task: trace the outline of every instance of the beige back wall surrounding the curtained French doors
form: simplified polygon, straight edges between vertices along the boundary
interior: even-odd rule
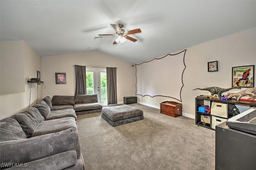
[[[135,95],[136,77],[135,67],[131,63],[101,53],[99,51],[87,51],[42,57],[42,80],[46,84],[43,96],[70,95],[75,92],[74,65],[92,67],[117,67],[117,95],[118,103],[123,102],[124,96]],[[55,73],[66,73],[66,84],[55,84]]]

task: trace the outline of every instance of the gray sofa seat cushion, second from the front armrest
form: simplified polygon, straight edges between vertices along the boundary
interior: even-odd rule
[[[62,117],[74,117],[76,120],[76,112],[74,109],[52,110],[46,120],[60,119]]]

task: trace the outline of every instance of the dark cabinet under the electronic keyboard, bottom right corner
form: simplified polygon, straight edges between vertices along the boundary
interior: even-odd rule
[[[231,129],[226,122],[216,126],[215,170],[255,170],[256,135]]]

